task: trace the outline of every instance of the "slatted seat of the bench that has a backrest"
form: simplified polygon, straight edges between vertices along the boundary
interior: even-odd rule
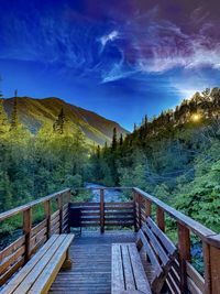
[[[112,244],[112,294],[151,294],[135,243]]]

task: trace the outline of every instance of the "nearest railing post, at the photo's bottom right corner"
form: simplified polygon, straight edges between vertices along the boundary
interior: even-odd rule
[[[205,294],[220,294],[220,235],[208,237],[208,239],[202,243]]]

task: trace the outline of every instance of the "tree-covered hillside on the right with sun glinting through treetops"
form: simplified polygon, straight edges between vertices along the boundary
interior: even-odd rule
[[[220,231],[220,88],[196,92],[91,156],[92,181],[139,186]]]

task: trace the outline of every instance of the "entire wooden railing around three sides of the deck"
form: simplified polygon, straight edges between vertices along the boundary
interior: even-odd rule
[[[178,258],[166,280],[170,293],[220,293],[220,235],[139,188],[122,188],[129,189],[130,194],[133,195],[130,200],[124,203],[108,203],[105,200],[106,189],[111,188],[91,189],[99,190],[99,202],[73,202],[70,189],[67,188],[0,214],[0,224],[16,215],[22,214],[23,216],[23,235],[0,251],[0,285],[9,280],[51,235],[68,232],[68,206],[70,204],[73,207],[81,208],[82,227],[99,227],[101,232],[105,232],[105,229],[119,228],[119,226],[139,230],[147,216],[154,217],[157,226],[166,231],[166,216],[169,216],[177,225],[178,247]],[[52,213],[54,200],[56,200],[57,209]],[[36,206],[43,207],[44,218],[34,225],[32,213]],[[205,276],[199,274],[191,264],[191,233],[196,235],[202,242]]]

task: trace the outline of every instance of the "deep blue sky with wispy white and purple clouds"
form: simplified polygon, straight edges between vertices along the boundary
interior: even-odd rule
[[[132,130],[220,86],[219,14],[219,0],[0,0],[0,88]]]

